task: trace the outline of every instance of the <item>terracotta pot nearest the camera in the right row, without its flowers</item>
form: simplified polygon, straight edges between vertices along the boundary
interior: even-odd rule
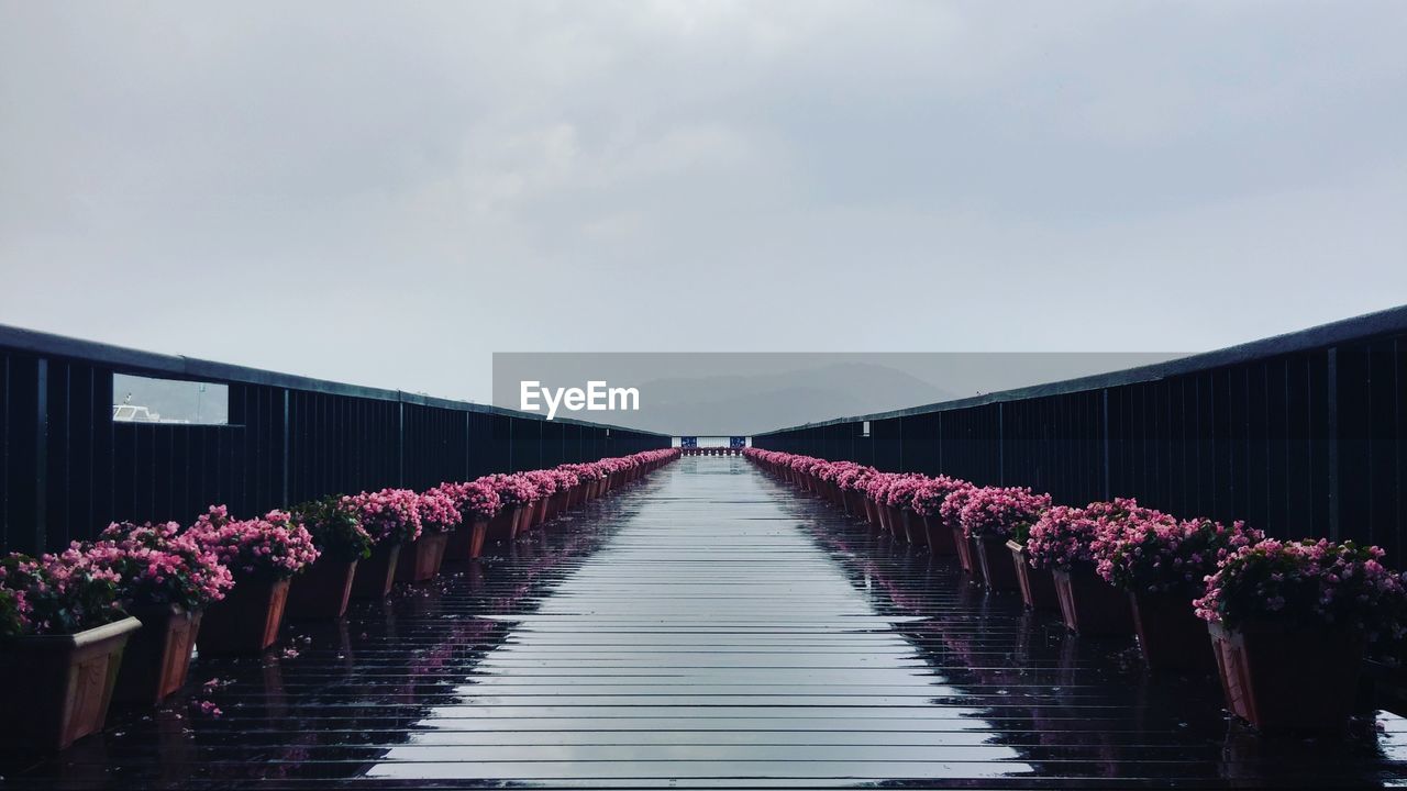
[[[1341,730],[1352,712],[1363,638],[1351,632],[1209,624],[1231,714],[1261,730]]]

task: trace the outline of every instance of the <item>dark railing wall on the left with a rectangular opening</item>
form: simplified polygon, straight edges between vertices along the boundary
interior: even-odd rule
[[[228,425],[113,419],[113,374],[227,384]],[[114,519],[263,512],[332,493],[667,448],[670,436],[0,325],[0,549]]]

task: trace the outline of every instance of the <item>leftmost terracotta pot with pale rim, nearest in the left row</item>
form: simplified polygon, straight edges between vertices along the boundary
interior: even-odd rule
[[[136,618],[76,635],[17,638],[0,652],[0,733],[42,750],[62,750],[97,733],[113,702],[122,649]]]

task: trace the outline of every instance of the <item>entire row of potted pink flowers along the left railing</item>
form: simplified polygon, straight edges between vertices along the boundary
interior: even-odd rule
[[[203,654],[259,653],[284,615],[339,618],[352,597],[424,581],[677,457],[677,450],[492,474],[428,491],[326,497],[241,519],[214,505],[189,528],[113,524],[61,553],[0,559],[0,698],[14,733],[62,749],[110,702],[153,705]]]

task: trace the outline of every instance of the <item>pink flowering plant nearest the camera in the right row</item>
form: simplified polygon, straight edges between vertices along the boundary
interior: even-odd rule
[[[1204,621],[1231,629],[1276,622],[1400,639],[1407,594],[1383,556],[1354,542],[1265,539],[1230,553],[1192,604]]]

